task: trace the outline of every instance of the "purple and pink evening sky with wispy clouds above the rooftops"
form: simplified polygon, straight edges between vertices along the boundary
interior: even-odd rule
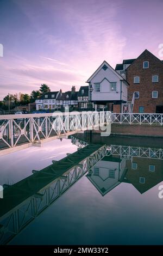
[[[146,48],[160,58],[162,10],[162,0],[0,0],[0,100],[42,83],[78,90],[104,60],[115,68]]]

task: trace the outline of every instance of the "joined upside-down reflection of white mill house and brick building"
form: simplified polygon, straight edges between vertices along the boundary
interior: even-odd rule
[[[105,196],[121,182],[132,184],[141,194],[163,180],[163,159],[133,156],[105,156],[87,178]]]

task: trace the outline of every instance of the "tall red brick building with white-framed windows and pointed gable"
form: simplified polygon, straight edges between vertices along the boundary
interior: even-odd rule
[[[145,50],[126,69],[128,101],[134,113],[163,113],[163,62]]]

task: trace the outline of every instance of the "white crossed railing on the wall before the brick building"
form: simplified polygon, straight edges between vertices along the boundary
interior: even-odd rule
[[[112,113],[113,124],[163,125],[163,114]]]

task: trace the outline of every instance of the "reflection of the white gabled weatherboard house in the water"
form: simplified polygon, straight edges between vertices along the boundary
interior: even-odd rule
[[[87,178],[104,196],[117,185],[121,183],[126,173],[126,159],[120,159],[119,156],[105,156],[101,161],[95,164]]]

